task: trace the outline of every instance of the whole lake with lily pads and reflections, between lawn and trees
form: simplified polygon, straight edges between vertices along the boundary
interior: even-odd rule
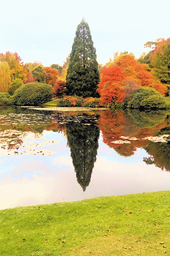
[[[0,209],[170,189],[168,111],[0,107]]]

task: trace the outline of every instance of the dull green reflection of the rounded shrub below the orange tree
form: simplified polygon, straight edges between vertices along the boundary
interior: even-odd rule
[[[132,117],[133,122],[140,128],[151,128],[155,127],[166,117],[164,110],[157,111],[139,111],[129,110],[129,116]]]

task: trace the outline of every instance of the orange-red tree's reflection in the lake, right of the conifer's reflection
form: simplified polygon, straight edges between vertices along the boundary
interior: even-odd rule
[[[145,126],[142,128],[134,123],[134,120],[128,113],[118,111],[112,113],[109,110],[102,111],[98,123],[102,131],[103,142],[109,145],[110,148],[114,148],[117,153],[123,156],[133,155],[137,148],[146,147],[148,140],[144,138],[155,135],[162,127],[166,126],[166,121],[163,119],[163,121],[156,126],[149,128]],[[129,138],[125,139],[125,137]],[[116,141],[117,143],[114,143]]]

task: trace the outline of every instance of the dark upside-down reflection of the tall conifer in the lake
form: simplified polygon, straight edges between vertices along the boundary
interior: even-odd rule
[[[96,121],[87,116],[81,122],[73,120],[67,123],[66,134],[77,182],[85,191],[96,162],[100,130]]]

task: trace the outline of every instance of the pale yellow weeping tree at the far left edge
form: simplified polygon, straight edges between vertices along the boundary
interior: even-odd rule
[[[0,63],[0,92],[8,92],[11,84],[11,71],[8,62]]]

